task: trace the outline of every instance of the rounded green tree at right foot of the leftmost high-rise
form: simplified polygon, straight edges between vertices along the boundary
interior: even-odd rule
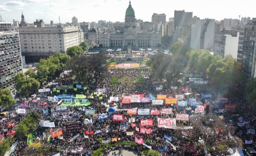
[[[28,96],[39,89],[40,83],[34,78],[26,78],[23,73],[18,73],[15,78],[15,89],[22,97]]]

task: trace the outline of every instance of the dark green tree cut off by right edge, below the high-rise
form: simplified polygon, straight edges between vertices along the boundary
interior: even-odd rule
[[[254,109],[256,109],[256,78],[248,79],[245,87],[245,94],[247,100],[254,106]]]

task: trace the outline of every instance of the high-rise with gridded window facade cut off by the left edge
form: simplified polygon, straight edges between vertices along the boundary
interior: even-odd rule
[[[14,77],[22,73],[20,38],[11,22],[0,22],[0,87],[15,94]]]

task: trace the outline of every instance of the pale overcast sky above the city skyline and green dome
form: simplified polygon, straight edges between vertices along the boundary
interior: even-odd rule
[[[78,22],[97,22],[106,20],[124,22],[129,0],[0,0],[0,14],[6,22],[20,21],[21,12],[27,23],[35,19],[44,19],[45,23],[72,22],[76,16]],[[165,13],[166,20],[174,17],[174,10],[193,12],[200,19],[224,18],[238,19],[256,17],[256,0],[131,0],[135,18],[151,22],[153,13]],[[241,18],[240,18],[241,19]]]

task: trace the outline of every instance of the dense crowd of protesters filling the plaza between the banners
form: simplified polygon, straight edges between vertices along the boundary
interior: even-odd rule
[[[167,94],[168,96],[175,97],[175,95],[183,94],[184,91],[182,90],[183,87],[178,87],[176,90],[171,90],[169,86],[166,86],[165,84],[158,84],[156,83],[152,78],[150,78],[149,75],[149,69],[140,69],[140,70],[115,70],[110,69],[110,75],[106,76],[104,81],[100,82],[98,85],[91,84],[87,86],[87,89],[78,89],[77,91],[74,91],[73,89],[67,90],[67,92],[63,92],[61,94],[68,94],[68,95],[76,95],[76,94],[83,94],[87,97],[90,96],[91,93],[95,92],[95,88],[107,88],[108,92],[105,94],[104,98],[102,100],[99,100],[98,94],[93,95],[94,98],[88,98],[88,101],[91,102],[89,106],[74,106],[74,107],[68,107],[68,110],[66,112],[59,112],[56,113],[56,109],[52,112],[51,115],[44,114],[43,110],[48,109],[50,106],[51,108],[55,108],[57,105],[57,102],[50,102],[48,101],[48,96],[57,96],[59,93],[57,92],[35,92],[36,97],[34,99],[37,99],[40,97],[40,100],[35,103],[32,102],[33,99],[27,98],[20,98],[17,97],[16,101],[17,103],[24,103],[27,102],[26,106],[26,113],[25,114],[17,114],[15,112],[16,108],[20,108],[18,105],[16,108],[13,108],[8,114],[4,116],[5,120],[2,120],[1,122],[1,130],[0,133],[4,133],[6,136],[6,133],[10,130],[14,130],[14,127],[10,127],[9,124],[15,123],[18,124],[27,113],[30,111],[35,111],[37,113],[40,113],[42,116],[42,120],[52,120],[55,122],[55,127],[51,128],[52,132],[56,130],[63,130],[63,139],[59,139],[58,137],[55,137],[51,143],[51,153],[49,153],[49,156],[52,156],[54,154],[57,154],[61,150],[66,151],[65,155],[82,155],[82,156],[90,156],[92,152],[96,149],[98,149],[102,144],[106,142],[110,142],[112,138],[119,138],[118,141],[134,141],[134,136],[137,138],[143,138],[144,142],[146,139],[152,140],[152,144],[150,145],[152,147],[152,150],[160,151],[162,156],[180,156],[185,155],[184,154],[184,145],[190,144],[191,146],[196,146],[196,142],[191,142],[189,139],[179,139],[176,137],[175,130],[168,129],[168,128],[159,128],[157,126],[157,118],[176,118],[176,114],[186,114],[185,109],[188,107],[191,107],[188,103],[187,106],[179,107],[174,104],[173,105],[151,105],[151,104],[140,104],[140,103],[134,103],[134,104],[122,104],[121,98],[124,95],[133,95],[133,94],[143,94],[144,97],[149,97],[149,95],[153,95],[156,97],[158,94]],[[113,84],[111,83],[111,77],[115,76],[117,78],[121,79],[121,82]],[[144,83],[125,83],[122,80],[123,77],[132,77],[132,80],[135,80],[138,77],[145,77]],[[130,81],[132,81],[130,80]],[[52,81],[52,83],[59,83],[58,85],[74,85],[76,82],[74,82],[73,79],[66,75],[60,76],[60,78],[57,78],[56,80]],[[162,86],[162,90],[156,90],[156,87]],[[188,87],[188,86],[187,86]],[[214,97],[217,97],[217,92],[212,92],[211,89],[207,88],[207,85],[190,85],[189,86],[191,90],[191,97],[196,97],[196,94],[200,94],[202,92],[211,92]],[[53,90],[56,88],[55,85],[44,85],[44,88],[50,88]],[[110,96],[116,96],[119,98],[118,102],[109,101]],[[59,99],[60,100],[60,99]],[[73,100],[74,101],[74,100]],[[40,106],[40,103],[47,102],[48,104],[46,106]],[[67,102],[67,101],[64,101]],[[229,103],[236,103],[237,106],[237,112],[240,110],[244,110],[248,107],[248,104],[242,100],[234,101],[233,99],[229,99]],[[109,118],[107,120],[98,120],[97,115],[85,115],[85,109],[95,110],[95,114],[102,114],[107,112],[106,106],[109,107],[117,107],[117,109],[121,109],[119,111],[116,111],[116,114],[123,114],[125,116],[124,121],[113,121],[111,118],[111,115],[109,115]],[[213,107],[218,107],[218,109],[222,109],[224,105],[222,103],[216,104]],[[160,115],[128,115],[126,110],[122,109],[129,109],[129,108],[138,108],[138,109],[158,109],[161,110],[162,108],[172,108],[171,114],[160,114]],[[254,113],[251,111],[251,109],[246,112],[246,114],[240,114],[240,116],[243,116],[244,119],[247,118],[247,116],[253,116]],[[241,111],[243,112],[243,111]],[[153,119],[153,126],[146,126],[145,128],[151,128],[151,134],[143,134],[136,130],[135,127],[131,126],[131,123],[129,122],[130,118],[135,118],[135,124],[137,128],[140,128],[140,120],[145,119]],[[84,124],[84,119],[92,119],[91,124]],[[193,126],[193,128],[196,128],[196,125],[193,125],[192,120],[194,118],[189,118],[187,121],[177,120],[177,126]],[[237,119],[236,119],[237,120]],[[82,129],[76,130],[76,131],[65,131],[65,125],[67,124],[74,124],[77,122],[82,123]],[[251,124],[254,124],[255,122],[252,121]],[[240,127],[241,130],[245,131],[243,129],[244,127]],[[45,142],[48,136],[45,137],[46,130],[50,130],[49,127],[39,127],[36,132],[34,132],[34,135],[37,139],[37,141],[41,140],[41,142]],[[98,130],[101,130],[100,133],[97,134],[87,134],[87,132],[96,132]],[[134,135],[129,136],[126,134],[126,132],[133,132]],[[79,134],[79,136],[71,141],[71,138]],[[172,137],[171,143],[175,146],[176,149],[173,148],[169,143],[166,142],[166,138],[164,136]],[[102,138],[104,140],[104,143],[100,143],[98,141],[99,138]],[[184,137],[186,138],[186,137]],[[21,138],[17,138],[19,140],[18,146],[11,155],[17,156],[21,155],[21,151],[26,148],[27,141],[22,140]],[[247,140],[249,139],[255,139],[252,134],[247,135]],[[105,148],[104,154],[107,155],[109,153],[112,153],[111,151],[115,149],[119,149],[121,152],[122,149],[135,149],[138,150],[138,155],[141,155],[142,151],[142,145],[136,145],[136,146],[118,146],[116,148]],[[191,153],[189,154],[191,155]],[[204,151],[197,151],[197,155],[204,155]]]

